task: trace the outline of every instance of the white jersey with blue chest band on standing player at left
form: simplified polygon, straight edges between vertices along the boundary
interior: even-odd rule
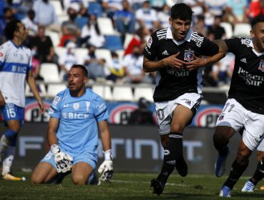
[[[13,41],[0,46],[0,91],[6,103],[25,107],[25,80],[31,69],[31,51],[26,46]]]

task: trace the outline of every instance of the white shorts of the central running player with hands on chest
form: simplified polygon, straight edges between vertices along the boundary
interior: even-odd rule
[[[203,95],[201,94],[186,93],[171,101],[156,102],[155,109],[159,133],[164,135],[171,131],[173,111],[176,109],[178,104],[186,106],[188,109],[193,111],[194,116],[200,107],[200,101],[202,101],[202,99]]]

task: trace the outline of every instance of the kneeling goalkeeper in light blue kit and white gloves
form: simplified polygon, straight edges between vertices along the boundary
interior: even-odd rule
[[[49,110],[47,140],[50,151],[31,176],[33,184],[61,179],[71,171],[74,184],[86,184],[97,163],[98,128],[105,161],[98,169],[101,179],[113,176],[108,109],[98,94],[86,88],[88,72],[82,65],[68,71],[68,89],[59,92]]]

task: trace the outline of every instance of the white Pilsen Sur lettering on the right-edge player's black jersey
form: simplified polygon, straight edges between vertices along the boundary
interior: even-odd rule
[[[260,69],[260,67],[258,69]],[[264,81],[264,76],[258,76],[258,75],[250,74],[250,73],[248,73],[248,71],[245,71],[241,67],[239,67],[239,69],[238,69],[238,75],[249,86],[260,86]]]

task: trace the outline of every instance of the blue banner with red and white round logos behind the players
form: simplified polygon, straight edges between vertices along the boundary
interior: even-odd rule
[[[44,101],[46,109],[51,106],[50,101]],[[106,102],[109,111],[109,124],[128,124],[128,119],[132,111],[138,108],[136,103],[131,102]],[[153,113],[153,119],[156,121],[155,106],[149,106]],[[214,127],[218,116],[223,109],[223,105],[201,105],[196,116],[193,118],[191,126]],[[48,122],[49,115],[40,113],[37,101],[26,99],[25,121],[30,122]]]

